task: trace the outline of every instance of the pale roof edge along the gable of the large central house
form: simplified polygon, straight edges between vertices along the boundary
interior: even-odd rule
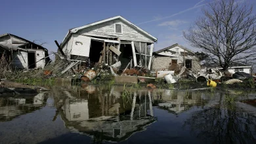
[[[140,31],[141,33],[144,33],[144,35],[147,35],[148,37],[150,37],[151,39],[153,39],[154,41],[158,41],[158,39],[156,37],[153,37],[152,35],[150,35],[149,33],[147,33],[146,31],[144,31],[143,29],[140,29],[140,27],[137,27],[135,26],[134,24],[132,24],[131,22],[129,22],[128,20],[126,20],[125,18],[123,18],[122,16],[114,16],[112,18],[107,18],[105,20],[100,20],[98,22],[93,22],[91,24],[87,24],[85,26],[81,26],[81,27],[75,27],[75,28],[72,28],[68,31],[66,37],[64,38],[64,40],[62,41],[62,43],[65,43],[66,39],[68,39],[68,37],[70,36],[71,33],[76,33],[77,31],[79,31],[80,29],[84,29],[84,28],[87,28],[87,27],[91,27],[91,26],[95,26],[97,24],[102,24],[104,22],[109,22],[111,20],[116,20],[116,19],[120,19],[122,20],[123,22],[129,24],[129,26],[131,27],[134,27],[135,29],[137,29],[138,31]],[[61,43],[61,45],[62,45]]]

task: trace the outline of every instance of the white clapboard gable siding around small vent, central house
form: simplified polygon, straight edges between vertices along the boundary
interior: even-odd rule
[[[116,23],[122,25],[122,33],[115,33]],[[152,39],[150,39],[140,31],[137,31],[136,28],[129,26],[122,20],[112,20],[109,22],[98,24],[96,26],[87,27],[78,31],[78,33],[92,36],[98,35],[99,37],[103,37],[104,35],[114,35],[116,37],[119,37],[121,40],[154,43]]]

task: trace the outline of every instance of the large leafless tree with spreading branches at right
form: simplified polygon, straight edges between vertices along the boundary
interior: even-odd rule
[[[256,60],[256,15],[253,6],[234,0],[216,0],[202,9],[203,16],[183,32],[188,42],[202,48],[224,70],[235,63]]]

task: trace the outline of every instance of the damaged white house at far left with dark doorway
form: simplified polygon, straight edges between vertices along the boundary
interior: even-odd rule
[[[49,62],[48,50],[10,33],[0,35],[0,56],[5,56],[13,68],[43,68]]]

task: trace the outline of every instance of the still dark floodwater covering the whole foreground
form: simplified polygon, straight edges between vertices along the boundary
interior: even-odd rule
[[[0,97],[0,143],[255,143],[253,92],[57,86]]]

